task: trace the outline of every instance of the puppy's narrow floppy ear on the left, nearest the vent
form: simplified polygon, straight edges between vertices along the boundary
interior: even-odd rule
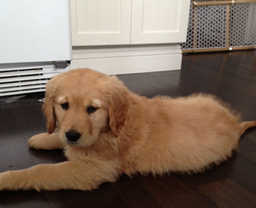
[[[54,80],[48,81],[46,84],[45,104],[43,110],[47,121],[47,132],[53,133],[56,128],[56,115],[54,112]]]

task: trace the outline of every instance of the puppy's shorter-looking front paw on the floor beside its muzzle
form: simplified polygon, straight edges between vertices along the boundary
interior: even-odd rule
[[[58,133],[39,133],[35,136],[32,136],[28,142],[31,148],[35,149],[63,149],[65,145],[60,141]]]

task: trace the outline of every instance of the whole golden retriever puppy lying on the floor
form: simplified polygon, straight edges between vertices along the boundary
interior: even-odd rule
[[[229,158],[242,133],[256,126],[214,96],[147,99],[90,69],[48,81],[44,110],[48,133],[29,145],[63,148],[68,161],[1,173],[1,190],[91,190],[122,173],[199,172]]]

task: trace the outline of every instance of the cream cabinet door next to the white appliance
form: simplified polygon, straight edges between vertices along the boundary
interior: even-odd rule
[[[131,0],[70,0],[72,45],[130,44]]]

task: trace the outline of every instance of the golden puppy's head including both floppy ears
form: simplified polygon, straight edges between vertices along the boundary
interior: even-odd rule
[[[119,136],[128,114],[128,93],[116,77],[90,69],[56,75],[46,85],[48,133],[58,123],[60,139],[82,147],[109,130]]]

